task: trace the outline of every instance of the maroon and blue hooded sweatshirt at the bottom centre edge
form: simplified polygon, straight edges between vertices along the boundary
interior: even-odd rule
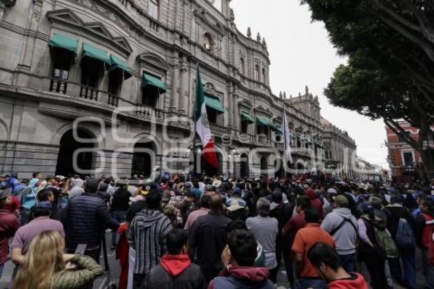
[[[208,289],[274,289],[274,284],[268,280],[269,271],[260,267],[230,267],[220,272],[209,283]]]

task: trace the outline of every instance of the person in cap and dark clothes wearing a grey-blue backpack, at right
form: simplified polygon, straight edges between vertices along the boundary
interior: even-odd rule
[[[416,257],[415,249],[416,242],[413,246],[402,247],[399,242],[396,242],[396,234],[398,226],[401,222],[407,224],[414,230],[414,220],[406,208],[402,206],[403,198],[401,195],[392,195],[390,197],[390,205],[384,207],[383,211],[387,215],[386,227],[389,230],[392,238],[399,250],[399,258],[389,260],[390,272],[392,277],[400,284],[408,288],[416,287]],[[404,219],[405,221],[400,221]],[[413,231],[413,237],[415,233]],[[400,264],[402,261],[402,267]],[[404,276],[404,278],[402,278]]]

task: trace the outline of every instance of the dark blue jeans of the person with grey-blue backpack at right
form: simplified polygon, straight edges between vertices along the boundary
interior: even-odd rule
[[[399,248],[399,257],[389,260],[390,273],[393,278],[403,282],[409,288],[416,287],[416,257],[415,249]],[[402,261],[402,268],[399,262]]]

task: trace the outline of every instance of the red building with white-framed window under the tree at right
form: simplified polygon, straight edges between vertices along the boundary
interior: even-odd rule
[[[411,136],[414,140],[419,139],[419,129],[412,127],[405,121],[398,122],[405,130],[405,133]],[[387,147],[389,149],[389,165],[392,171],[392,178],[401,183],[409,183],[422,176],[422,158],[418,151],[412,148],[404,141],[403,135],[396,135],[388,127],[385,128],[387,133]],[[434,129],[434,126],[431,127]],[[424,142],[425,150],[433,147],[432,138]],[[433,174],[428,169],[428,175]]]

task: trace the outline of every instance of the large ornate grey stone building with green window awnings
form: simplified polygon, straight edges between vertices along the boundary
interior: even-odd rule
[[[282,174],[286,97],[229,2],[0,0],[0,173],[188,172],[200,68],[219,173]],[[293,167],[322,168],[318,98],[285,104]]]

